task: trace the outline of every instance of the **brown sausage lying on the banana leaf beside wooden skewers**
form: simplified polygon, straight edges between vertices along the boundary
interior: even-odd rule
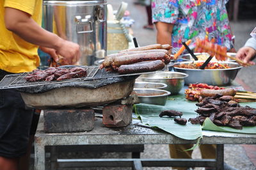
[[[236,91],[232,88],[227,89],[202,89],[200,91],[200,95],[202,97],[214,97],[215,95],[223,95],[223,96],[235,96]]]

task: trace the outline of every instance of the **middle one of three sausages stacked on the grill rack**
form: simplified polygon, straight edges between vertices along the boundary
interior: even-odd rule
[[[127,56],[120,56],[114,59],[112,66],[120,66],[120,65],[130,65],[133,63],[138,63],[141,61],[154,61],[154,60],[162,60],[165,61],[169,58],[164,52],[149,52],[142,54],[130,54]]]

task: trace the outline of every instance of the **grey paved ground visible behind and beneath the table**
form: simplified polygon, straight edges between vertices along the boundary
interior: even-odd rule
[[[132,19],[135,20],[135,24],[132,26],[134,36],[136,37],[140,46],[150,45],[156,43],[156,31],[150,31],[143,29],[143,25],[147,24],[147,17],[145,7],[140,5],[134,5],[135,0],[125,0],[129,4],[128,10],[131,12]],[[118,9],[120,0],[108,0],[109,4],[113,5],[114,10]],[[238,20],[238,22],[231,22],[232,30],[236,35],[236,50],[244,45],[244,42],[250,37],[249,33],[255,27],[256,20]],[[256,91],[255,81],[256,66],[250,68],[242,68],[238,73],[237,78],[244,82],[247,86],[247,90]],[[70,153],[68,155],[61,155],[63,158],[74,158],[81,156],[79,153]],[[84,155],[82,155],[84,156]],[[94,155],[95,158],[131,158],[131,153],[104,153],[103,155]],[[141,153],[141,158],[170,158],[168,145],[151,145],[145,144],[145,150]],[[200,158],[200,151],[196,149],[193,152],[193,158]],[[47,159],[49,161],[49,159]],[[225,144],[225,162],[230,166],[237,169],[256,170],[256,146],[255,145],[230,145]],[[49,167],[49,166],[48,166]],[[33,169],[33,159],[31,159],[31,169]],[[47,168],[48,169],[48,168]],[[102,169],[102,168],[98,168]],[[112,168],[111,168],[112,169]],[[120,169],[120,168],[113,168]],[[122,168],[124,169],[124,168]],[[145,168],[151,169],[170,169],[168,167],[159,168]],[[199,170],[202,168],[196,168]]]

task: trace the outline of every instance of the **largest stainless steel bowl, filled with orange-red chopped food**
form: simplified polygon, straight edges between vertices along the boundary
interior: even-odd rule
[[[221,64],[227,64],[231,68],[225,69],[192,69],[192,68],[179,68],[180,64],[189,64],[198,61],[184,61],[180,63],[175,63],[173,69],[176,72],[187,73],[189,76],[185,78],[185,84],[202,82],[212,86],[224,86],[230,84],[237,75],[237,72],[242,68],[235,62],[222,61],[218,62]],[[202,61],[201,61],[202,62]]]

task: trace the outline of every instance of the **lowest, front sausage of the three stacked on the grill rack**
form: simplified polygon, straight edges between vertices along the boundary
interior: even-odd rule
[[[118,68],[118,73],[141,73],[141,72],[154,72],[164,68],[164,62],[161,60],[156,61],[143,61],[132,65],[121,65]]]

